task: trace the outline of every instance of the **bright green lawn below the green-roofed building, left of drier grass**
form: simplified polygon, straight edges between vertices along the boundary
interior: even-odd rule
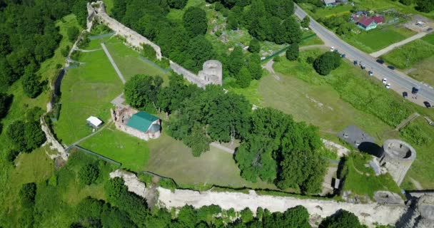
[[[148,142],[116,130],[113,123],[80,146],[121,162],[124,169],[133,172],[145,170],[149,159]]]

